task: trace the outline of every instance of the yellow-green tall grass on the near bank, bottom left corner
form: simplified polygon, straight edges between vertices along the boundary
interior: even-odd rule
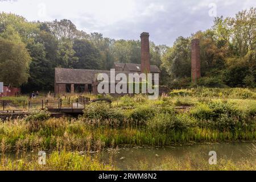
[[[79,152],[53,151],[47,155],[46,165],[38,163],[38,156],[22,156],[10,159],[2,156],[0,171],[111,171],[117,168],[100,162],[97,156],[82,155]]]

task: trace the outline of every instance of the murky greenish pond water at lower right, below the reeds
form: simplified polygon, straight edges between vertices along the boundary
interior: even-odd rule
[[[172,158],[181,163],[188,157],[209,161],[209,152],[216,151],[217,161],[220,159],[240,162],[249,160],[255,164],[255,157],[251,155],[253,142],[234,143],[206,143],[206,144],[184,144],[170,147],[133,147],[109,150],[102,155],[105,162],[112,160],[114,166],[122,170],[140,169],[138,166],[147,164],[147,168],[155,169],[166,162],[167,158]]]

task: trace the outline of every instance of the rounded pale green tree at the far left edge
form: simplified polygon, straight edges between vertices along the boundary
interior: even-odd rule
[[[0,80],[6,85],[20,86],[28,80],[31,57],[26,44],[12,27],[0,34]]]

